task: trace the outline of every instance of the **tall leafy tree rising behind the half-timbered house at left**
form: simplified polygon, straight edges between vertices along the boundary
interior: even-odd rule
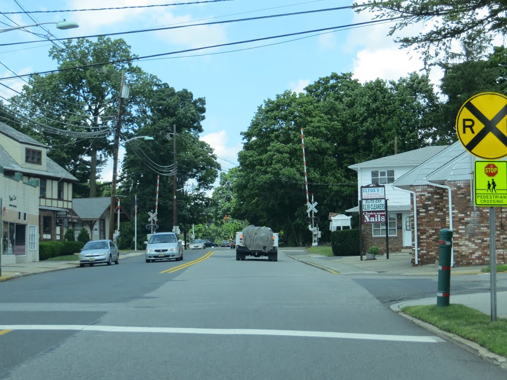
[[[157,80],[132,65],[134,55],[122,39],[98,37],[96,42],[79,39],[63,44],[64,49],[54,46],[49,51],[60,71],[31,77],[22,93],[11,99],[11,109],[22,121],[22,132],[48,144],[50,158],[80,182],[89,183],[76,188],[88,194],[77,196],[95,197],[97,175],[113,154],[110,137],[117,124],[122,72],[132,83],[131,96],[123,105],[125,136],[136,130],[135,114],[142,107],[139,101],[144,101],[140,88]],[[77,66],[86,67],[73,69]]]

